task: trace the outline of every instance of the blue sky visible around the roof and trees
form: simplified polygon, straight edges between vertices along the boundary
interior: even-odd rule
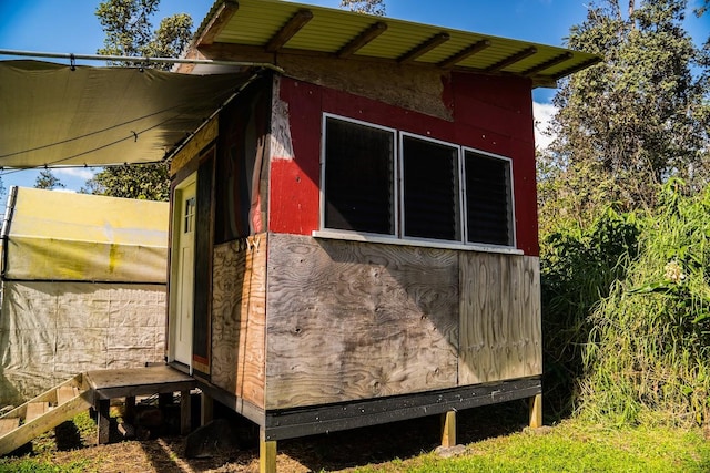
[[[104,33],[94,11],[100,0],[0,0],[0,49],[59,53],[94,54],[103,45]],[[162,0],[160,18],[189,13],[195,27],[214,0]],[[459,30],[515,38],[537,43],[564,45],[572,24],[584,21],[589,0],[386,0],[387,17],[436,24]],[[690,0],[691,4],[700,0]],[[311,0],[300,3],[337,8],[339,0]],[[696,19],[688,14],[686,28],[697,42],[710,34],[710,16]],[[8,58],[6,58],[8,59]],[[17,58],[16,58],[17,59]],[[100,65],[93,62],[92,65]],[[539,114],[549,114],[548,103],[555,91],[534,92]],[[544,119],[544,117],[542,117]],[[6,120],[6,117],[0,117]],[[0,124],[1,126],[1,124]],[[91,169],[55,169],[54,175],[69,189],[79,189]],[[0,174],[7,188],[33,186],[38,172]],[[2,213],[2,209],[0,209]]]

